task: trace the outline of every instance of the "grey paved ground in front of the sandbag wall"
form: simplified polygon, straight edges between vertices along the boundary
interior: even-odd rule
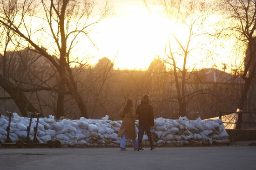
[[[0,170],[256,170],[256,146],[0,148]]]

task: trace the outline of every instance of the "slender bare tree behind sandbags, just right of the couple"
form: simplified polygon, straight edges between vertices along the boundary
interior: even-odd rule
[[[152,2],[152,0],[144,0],[147,6],[148,1]],[[188,58],[203,55],[207,51],[202,39],[209,38],[205,29],[205,21],[209,17],[207,7],[209,4],[202,0],[153,0],[153,2],[162,7],[170,23],[169,38],[162,60],[170,68],[169,73],[174,76],[176,94],[172,101],[178,102],[179,115],[185,116],[187,99],[204,91],[188,90],[190,89],[188,81],[196,66],[196,64],[189,66]],[[182,63],[181,66],[179,63]]]

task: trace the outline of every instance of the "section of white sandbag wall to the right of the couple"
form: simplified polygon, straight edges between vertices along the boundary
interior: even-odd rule
[[[158,145],[212,145],[228,144],[229,135],[222,120],[179,120],[157,118],[153,138]]]

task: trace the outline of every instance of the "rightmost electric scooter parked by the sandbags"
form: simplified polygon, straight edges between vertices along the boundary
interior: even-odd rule
[[[36,133],[37,133],[37,128],[38,128],[39,115],[40,115],[40,113],[34,113],[34,114],[36,115],[36,118],[37,118],[37,120],[36,120],[36,125],[35,125],[35,127],[34,127],[34,139],[33,139],[34,145],[47,145],[48,148],[53,148],[53,147],[59,148],[59,147],[61,147],[61,141],[59,141],[59,140],[55,140],[55,141],[53,141],[53,140],[48,140],[47,143],[40,143],[40,142],[38,141],[38,139],[37,139],[37,137],[36,137]]]

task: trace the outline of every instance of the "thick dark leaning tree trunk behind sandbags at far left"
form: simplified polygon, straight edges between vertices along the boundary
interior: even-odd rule
[[[23,117],[27,117],[28,112],[38,112],[37,109],[27,100],[25,94],[20,91],[12,82],[9,82],[0,75],[0,86],[11,96],[20,110]],[[40,116],[44,116],[43,113]]]

